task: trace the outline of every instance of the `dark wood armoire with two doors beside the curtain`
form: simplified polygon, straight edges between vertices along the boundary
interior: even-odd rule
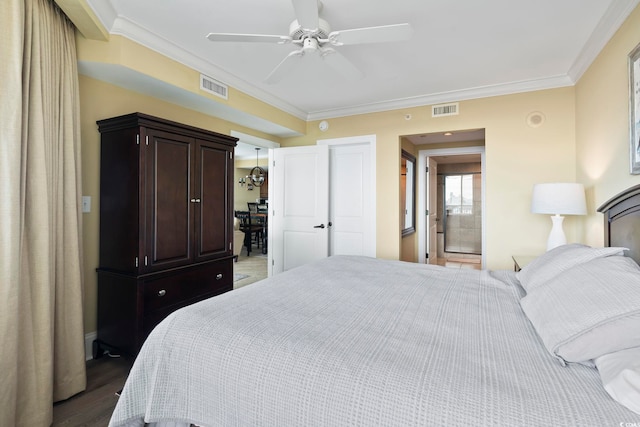
[[[141,113],[97,124],[94,358],[105,350],[135,356],[168,314],[233,289],[237,138]]]

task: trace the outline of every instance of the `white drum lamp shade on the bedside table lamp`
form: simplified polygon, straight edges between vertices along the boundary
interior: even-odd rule
[[[575,183],[536,184],[531,198],[531,212],[549,215],[586,215],[584,186]]]

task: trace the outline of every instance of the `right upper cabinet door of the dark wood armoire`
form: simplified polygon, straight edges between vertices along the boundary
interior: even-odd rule
[[[225,146],[198,141],[195,187],[200,202],[194,212],[197,262],[231,254],[232,162]]]

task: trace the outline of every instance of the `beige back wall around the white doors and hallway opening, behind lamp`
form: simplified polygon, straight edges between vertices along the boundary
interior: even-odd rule
[[[527,116],[542,112],[545,122],[532,128]],[[412,120],[405,120],[411,114]],[[310,122],[304,137],[283,146],[313,144],[317,139],[376,134],[377,256],[398,259],[401,135],[485,129],[487,268],[511,268],[512,254],[545,250],[548,216],[530,213],[531,189],[538,182],[575,181],[574,88],[560,88],[460,102],[458,116],[431,118],[430,107],[331,119],[320,132]],[[577,222],[565,220],[569,241],[577,241]],[[420,231],[418,231],[420,232]]]

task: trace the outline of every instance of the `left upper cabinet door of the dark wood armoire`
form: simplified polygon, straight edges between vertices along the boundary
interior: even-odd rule
[[[186,265],[193,259],[193,149],[190,137],[147,129],[145,253],[141,271]]]

